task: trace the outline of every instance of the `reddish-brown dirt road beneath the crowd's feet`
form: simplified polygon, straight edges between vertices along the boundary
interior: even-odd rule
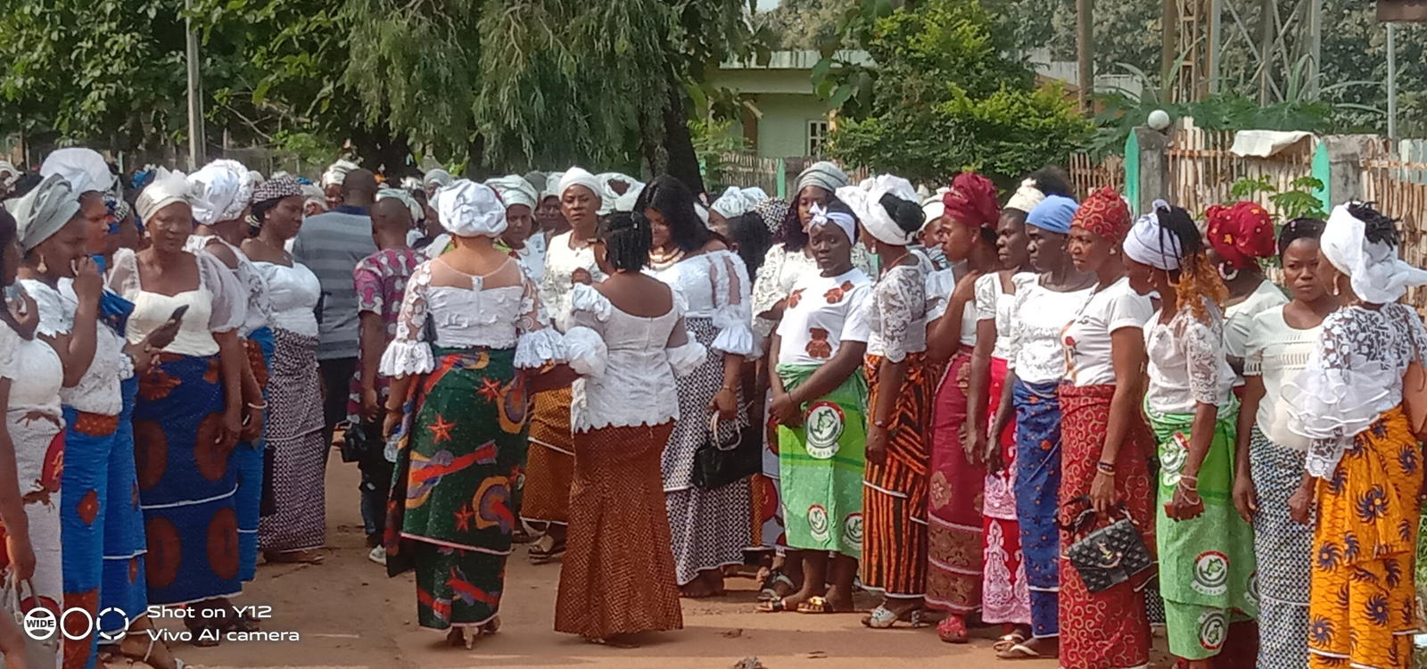
[[[768,669],[896,669],[996,665],[992,630],[970,645],[940,643],[932,629],[863,629],[856,615],[755,613],[752,581],[729,579],[728,596],[685,601],[679,632],[645,635],[638,649],[582,643],[552,630],[559,565],[532,566],[512,556],[501,601],[501,632],[474,650],[440,645],[415,625],[410,575],[388,579],[367,561],[357,512],[357,469],[334,458],[327,476],[327,542],[321,565],[258,566],[238,605],[271,606],[264,632],[297,632],[298,640],[224,640],[217,648],[174,642],[197,668],[678,668],[728,669],[758,658]],[[171,630],[180,621],[164,621]],[[120,665],[116,665],[120,666]],[[1053,669],[1055,660],[1005,663]]]

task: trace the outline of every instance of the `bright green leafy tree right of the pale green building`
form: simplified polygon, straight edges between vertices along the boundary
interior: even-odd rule
[[[975,168],[1010,185],[1065,160],[1090,133],[1060,86],[1037,87],[1007,56],[1009,36],[975,0],[920,1],[860,30],[876,67],[828,87],[835,103],[848,101],[870,78],[866,101],[832,133],[832,154],[846,163],[913,181]]]

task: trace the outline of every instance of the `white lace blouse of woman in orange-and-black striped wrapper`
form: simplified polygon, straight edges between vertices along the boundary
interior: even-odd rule
[[[926,351],[926,275],[932,264],[922,254],[913,257],[918,264],[888,270],[862,304],[872,332],[868,355],[902,362],[910,354]]]

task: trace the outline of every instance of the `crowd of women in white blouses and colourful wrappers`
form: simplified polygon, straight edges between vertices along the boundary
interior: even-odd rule
[[[1000,204],[831,163],[712,205],[578,167],[323,181],[218,160],[126,194],[68,148],[0,208],[6,588],[131,632],[41,665],[181,666],[133,633],[151,605],[255,630],[258,556],[321,559],[335,402],[371,559],[452,645],[498,629],[525,542],[596,643],[762,556],[762,612],[866,591],[866,628],[999,625],[1003,659],[1147,666],[1163,625],[1189,668],[1410,666],[1427,271],[1368,204],[1136,220],[1053,168]],[[334,221],[372,242],[335,264],[354,304],[298,235]]]

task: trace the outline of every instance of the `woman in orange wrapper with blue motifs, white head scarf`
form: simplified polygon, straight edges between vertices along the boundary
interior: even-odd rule
[[[1317,511],[1310,668],[1413,662],[1424,462],[1403,377],[1427,359],[1427,331],[1397,301],[1408,285],[1427,285],[1427,271],[1403,262],[1397,244],[1396,221],[1370,205],[1333,210],[1320,248],[1329,292],[1343,307],[1323,320],[1309,367],[1284,389],[1291,429],[1310,439],[1307,472],[1289,508],[1303,524]]]

